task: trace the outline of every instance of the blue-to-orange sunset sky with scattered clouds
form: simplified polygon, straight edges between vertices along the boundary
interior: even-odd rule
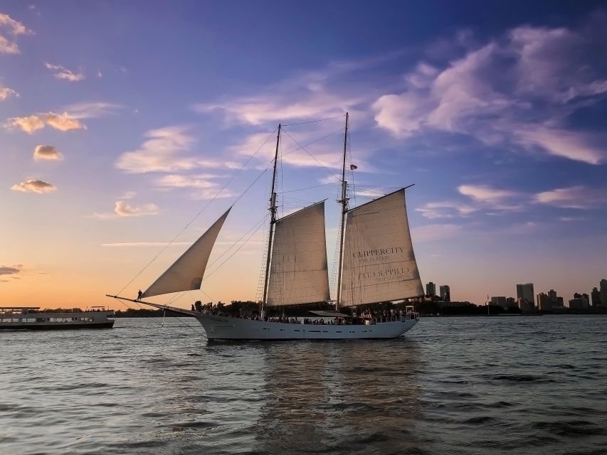
[[[332,267],[345,112],[352,203],[415,183],[423,283],[589,293],[607,278],[601,3],[3,1],[0,305],[121,308],[105,294],[145,289],[253,182],[174,304],[255,299],[279,122],[279,215],[327,198]]]

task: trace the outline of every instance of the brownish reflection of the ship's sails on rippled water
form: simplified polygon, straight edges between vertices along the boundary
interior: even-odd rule
[[[418,447],[416,342],[273,343],[265,350],[266,401],[255,424],[268,454],[402,453]]]

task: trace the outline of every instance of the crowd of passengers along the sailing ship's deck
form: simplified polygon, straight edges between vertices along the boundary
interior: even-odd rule
[[[192,306],[192,310],[194,311],[194,306]],[[204,310],[204,313],[215,314],[218,316],[230,316],[232,318],[238,319],[250,319],[251,321],[260,321],[260,317],[258,314],[225,314],[223,311],[218,311],[213,308],[213,310]],[[297,319],[294,317],[285,316],[284,314],[280,316],[266,316],[263,320],[266,322],[279,322],[286,324],[315,324],[320,326],[334,326],[334,325],[349,325],[349,324],[364,324],[365,321],[371,320],[376,322],[390,322],[390,321],[400,321],[403,316],[406,316],[407,313],[403,309],[389,309],[389,310],[369,310],[366,309],[361,312],[359,316],[355,316],[354,318],[349,318],[344,315],[344,318],[333,318],[327,320],[327,318],[320,319]],[[329,316],[330,317],[330,316]]]

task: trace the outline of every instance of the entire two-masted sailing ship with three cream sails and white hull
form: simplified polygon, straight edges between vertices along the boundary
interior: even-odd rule
[[[194,316],[204,327],[209,339],[396,338],[410,330],[419,321],[418,314],[413,312],[411,306],[406,307],[405,311],[384,311],[380,315],[369,311],[364,311],[360,316],[357,314],[358,310],[364,310],[365,306],[371,304],[405,301],[422,296],[423,288],[408,225],[406,188],[354,208],[348,207],[348,183],[345,180],[348,114],[339,200],[342,210],[334,311],[311,311],[314,316],[303,321],[301,318],[266,316],[268,311],[285,307],[332,302],[327,267],[324,200],[277,218],[276,168],[280,132],[279,125],[270,191],[270,226],[263,299],[258,316],[238,318],[142,300],[201,288],[211,250],[232,208],[228,208],[137,299],[110,294],[107,296]],[[347,308],[351,309],[350,314],[343,312]],[[316,319],[312,323],[314,317]]]

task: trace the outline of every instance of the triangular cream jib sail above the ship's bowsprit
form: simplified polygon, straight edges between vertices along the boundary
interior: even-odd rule
[[[160,277],[142,294],[142,297],[158,296],[171,292],[200,289],[206,263],[219,230],[231,208],[213,223],[211,228],[189,247]]]

